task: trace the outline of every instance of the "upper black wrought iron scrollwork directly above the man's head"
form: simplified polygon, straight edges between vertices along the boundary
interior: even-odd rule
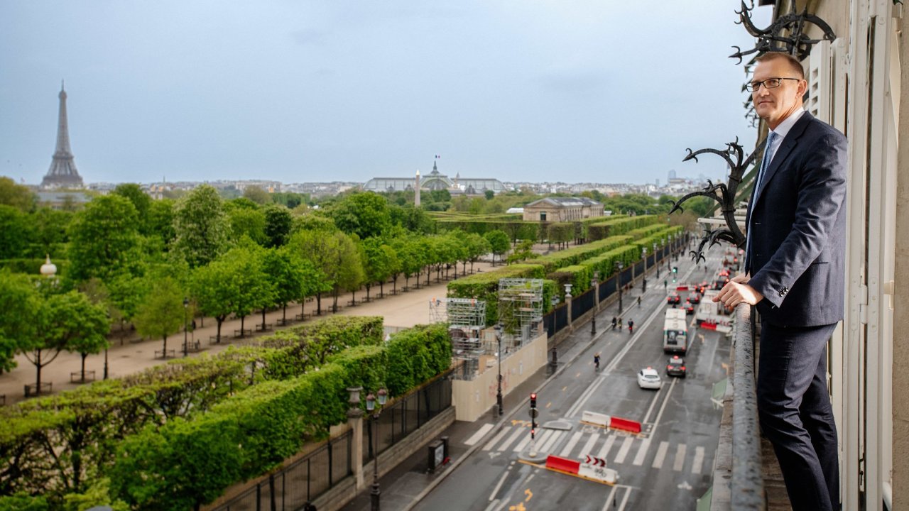
[[[764,30],[761,30],[751,22],[751,9],[742,2],[742,10],[735,11],[735,14],[739,15],[739,21],[735,22],[735,24],[744,25],[748,34],[757,37],[757,45],[746,52],[743,52],[742,48],[739,46],[733,46],[736,51],[733,55],[729,56],[731,58],[739,59],[738,64],[742,64],[742,57],[744,57],[744,55],[751,55],[754,53],[763,54],[766,52],[784,52],[789,55],[794,55],[799,60],[804,60],[804,57],[811,54],[812,46],[821,41],[833,41],[836,38],[830,25],[827,25],[823,19],[808,14],[807,6],[805,6],[805,9],[801,14],[798,14],[795,11],[795,2],[792,2],[790,5],[792,5],[792,8],[789,14],[779,16],[774,20],[773,24]],[[804,25],[806,23],[813,24],[820,28],[821,32],[824,33],[824,36],[821,39],[812,39],[808,35],[805,35]]]

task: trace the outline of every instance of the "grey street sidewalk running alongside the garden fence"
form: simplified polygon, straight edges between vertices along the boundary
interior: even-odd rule
[[[681,262],[681,261],[680,261]],[[654,268],[648,268],[648,283],[655,283],[656,271]],[[636,312],[637,306],[632,305],[630,299],[640,296],[638,281],[640,276],[635,280],[634,291],[627,293],[628,303],[624,306],[624,313],[618,313],[618,302],[603,306],[596,315],[597,334],[591,335],[590,322],[574,324],[574,332],[569,334],[558,345],[558,368],[556,372],[564,370],[580,356],[587,356],[587,348],[590,347],[594,338],[599,338],[608,333],[613,316],[623,317],[630,316]],[[663,286],[648,286],[648,294],[664,294]],[[592,356],[592,355],[591,355]],[[381,491],[381,503],[385,509],[411,509],[427,495],[436,485],[442,482],[445,476],[448,476],[462,461],[467,459],[473,452],[482,448],[485,443],[494,436],[501,427],[514,419],[526,419],[526,410],[528,396],[531,392],[536,392],[543,388],[554,373],[550,366],[544,366],[530,376],[524,384],[514,387],[512,392],[504,396],[504,415],[500,418],[496,414],[496,408],[493,406],[483,416],[475,422],[455,421],[452,426],[440,436],[448,436],[449,456],[451,463],[443,467],[435,475],[426,474],[427,452],[426,446],[421,446],[416,452],[408,457],[404,462],[395,466],[385,476],[379,478],[379,488]],[[486,435],[476,442],[473,446],[467,446],[466,441],[476,433],[477,424],[494,423],[494,427]],[[431,439],[431,441],[436,438]],[[428,445],[428,442],[427,444]],[[371,506],[370,490],[373,482],[373,474],[365,474],[366,488],[360,492],[354,500],[342,507],[344,511],[368,511]]]

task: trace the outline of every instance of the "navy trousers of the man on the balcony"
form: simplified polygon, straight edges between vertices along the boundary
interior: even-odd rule
[[[840,508],[836,425],[826,376],[826,346],[835,327],[761,326],[757,411],[794,511]]]

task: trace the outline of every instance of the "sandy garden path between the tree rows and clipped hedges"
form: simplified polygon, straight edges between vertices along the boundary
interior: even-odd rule
[[[491,267],[492,265],[489,263],[474,263],[474,272],[488,271]],[[468,275],[470,275],[469,266],[467,271]],[[460,273],[458,275],[460,275]],[[446,286],[449,281],[445,280],[444,272],[442,276],[443,280],[436,283],[434,272],[430,280],[431,285],[425,286],[421,284],[419,289],[415,288],[416,280],[412,277],[410,279],[410,290],[406,293],[401,292],[402,286],[404,286],[405,283],[404,277],[399,277],[397,285],[398,294],[395,296],[389,295],[392,286],[385,285],[385,297],[381,299],[375,299],[375,296],[379,293],[379,288],[378,286],[374,286],[370,290],[371,301],[369,303],[360,301],[366,297],[365,290],[358,291],[356,293],[356,306],[347,305],[350,300],[350,293],[344,293],[338,296],[337,314],[341,316],[384,316],[386,328],[393,331],[399,328],[429,323],[430,300],[436,297],[441,298],[446,296]],[[426,275],[423,274],[421,276],[421,282],[425,283],[425,279]],[[306,302],[306,319],[303,322],[294,321],[295,316],[300,314],[300,305],[292,304],[287,306],[287,318],[291,321],[289,321],[288,326],[286,327],[304,325],[305,323],[313,321],[314,317],[331,316],[331,304],[332,297],[323,296],[322,316],[312,316],[315,314],[315,299]],[[262,324],[261,312],[246,316],[244,329],[252,331],[252,336],[246,335],[245,338],[242,339],[235,337],[235,331],[238,332],[240,330],[240,320],[226,320],[221,326],[221,344],[210,344],[209,338],[215,336],[217,324],[214,319],[206,317],[205,326],[198,326],[195,329],[195,332],[191,332],[189,336],[187,336],[187,340],[191,346],[195,341],[201,347],[200,351],[190,352],[189,356],[200,356],[201,354],[214,355],[224,351],[228,346],[240,346],[252,342],[256,337],[270,336],[275,333],[277,320],[281,319],[282,316],[283,312],[281,310],[266,313],[265,324],[270,325],[270,329],[265,332],[257,332],[255,330],[256,326]],[[196,318],[196,322],[199,323],[198,318]],[[277,329],[280,330],[286,327],[281,326]],[[126,331],[125,336],[121,341],[118,338],[118,334],[119,330],[117,326],[115,326],[114,332],[110,336],[112,345],[107,353],[108,377],[115,378],[118,376],[131,375],[145,370],[148,367],[165,364],[167,360],[183,357],[183,332],[167,337],[168,354],[170,354],[172,350],[174,354],[174,356],[168,356],[167,359],[155,358],[155,351],[160,352],[163,349],[164,342],[162,339],[145,339],[143,341],[139,339],[139,335],[136,332]],[[50,354],[46,352],[43,354],[45,358],[49,355]],[[15,356],[15,361],[18,363],[18,366],[12,372],[0,375],[0,396],[5,395],[6,405],[12,405],[25,399],[25,385],[35,384],[35,366],[33,366],[24,355]],[[81,366],[82,356],[77,353],[61,352],[52,363],[42,369],[41,381],[42,383],[53,383],[53,390],[55,393],[75,389],[82,384],[72,383],[71,373],[75,373],[75,379],[78,380]],[[85,371],[86,373],[94,371],[95,380],[104,378],[104,366],[104,352],[98,355],[90,355],[85,358]],[[44,395],[44,393],[42,394]],[[0,397],[0,405],[2,405],[2,403],[3,398]]]

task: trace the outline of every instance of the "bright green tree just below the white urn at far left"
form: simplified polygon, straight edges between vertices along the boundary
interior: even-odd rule
[[[62,351],[98,353],[107,346],[110,323],[103,306],[92,304],[78,291],[47,296],[37,301],[32,320],[35,333],[21,339],[20,350],[35,366],[35,384],[41,392],[41,370]],[[83,357],[85,359],[85,356]]]

